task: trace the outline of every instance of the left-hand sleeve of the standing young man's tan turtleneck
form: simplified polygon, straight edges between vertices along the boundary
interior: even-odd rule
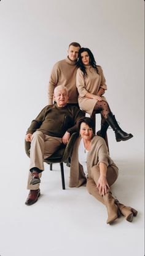
[[[53,92],[54,92],[55,86],[57,86],[57,83],[58,83],[58,76],[59,76],[59,70],[58,70],[57,64],[55,64],[52,68],[52,72],[49,80],[49,88],[48,88],[49,105],[53,104]]]

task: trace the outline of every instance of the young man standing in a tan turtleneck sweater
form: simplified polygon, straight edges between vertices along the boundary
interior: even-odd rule
[[[56,86],[63,85],[68,89],[68,104],[78,105],[78,92],[76,88],[77,57],[80,44],[73,42],[69,44],[68,56],[58,61],[52,68],[49,80],[49,105],[53,104],[53,92]]]

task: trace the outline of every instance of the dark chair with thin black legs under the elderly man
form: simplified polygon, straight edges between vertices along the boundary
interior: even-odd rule
[[[60,163],[61,181],[62,181],[63,189],[65,189],[65,175],[64,175],[63,162],[70,159],[74,142],[76,141],[76,138],[78,136],[79,136],[79,133],[73,133],[69,138],[68,144],[66,144],[66,146],[65,144],[62,143],[58,151],[53,153],[53,155],[51,155],[47,159],[44,159],[45,163],[50,164],[50,170],[52,170],[52,163]],[[25,141],[25,151],[28,157],[29,157],[30,146],[31,146],[31,142]]]

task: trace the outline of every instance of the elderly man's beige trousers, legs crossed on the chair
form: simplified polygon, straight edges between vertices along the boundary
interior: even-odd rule
[[[42,133],[41,131],[35,131],[32,135],[31,148],[30,148],[30,166],[29,170],[33,167],[37,167],[40,170],[44,170],[44,159],[50,157],[62,143],[61,138],[52,137]],[[41,178],[42,173],[39,173]],[[30,185],[31,171],[28,175],[27,189],[39,189],[39,183]]]

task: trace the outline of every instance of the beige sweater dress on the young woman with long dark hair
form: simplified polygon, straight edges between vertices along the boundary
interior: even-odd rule
[[[92,93],[97,95],[100,88],[107,89],[106,80],[103,75],[103,70],[100,66],[97,66],[99,70],[99,75],[96,73],[96,70],[90,66],[86,65],[87,77],[84,78],[83,72],[80,68],[77,69],[76,75],[76,86],[79,92],[79,107],[88,114],[92,115],[93,109],[97,102],[96,99],[89,99],[85,97],[86,93]],[[102,96],[102,99],[106,101],[105,97]]]

